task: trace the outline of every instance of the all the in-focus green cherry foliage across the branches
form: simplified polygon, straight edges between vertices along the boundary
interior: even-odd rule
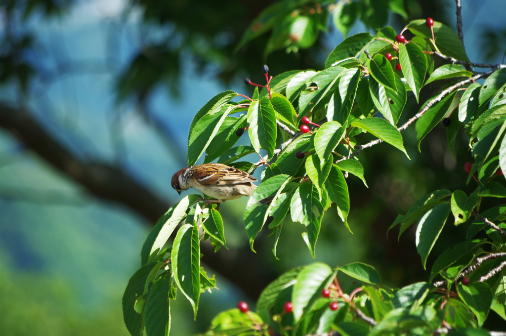
[[[365,183],[357,154],[386,142],[407,155],[401,130],[416,122],[419,146],[450,113],[448,143],[453,149],[457,133],[463,128],[475,157],[468,182],[477,173],[476,191],[470,196],[460,190],[430,193],[392,225],[400,224],[402,233],[417,222],[416,247],[425,267],[450,212],[455,224],[468,221],[473,214],[487,218],[477,218],[470,225],[467,241],[449,248],[434,264],[431,281],[441,275],[445,281],[438,285],[447,284],[447,288],[418,283],[399,290],[386,289],[377,286],[379,275],[370,266],[353,264],[332,271],[326,265],[313,264],[290,271],[267,287],[259,301],[258,315],[240,315],[237,310],[219,315],[211,334],[268,333],[272,331],[267,327],[267,311],[271,308],[279,332],[291,335],[330,329],[350,335],[397,334],[403,330],[428,334],[439,328],[466,332],[466,328],[481,327],[490,309],[506,319],[504,265],[500,259],[505,239],[501,233],[506,235],[500,227],[504,224],[475,238],[483,234],[490,221],[502,221],[506,212],[499,205],[478,214],[483,198],[506,196],[506,188],[491,181],[499,166],[506,169],[506,140],[502,137],[506,129],[506,105],[502,104],[506,100],[506,69],[496,66],[488,72],[472,72],[457,64],[435,68],[434,57],[439,57],[435,53],[472,65],[457,34],[439,22],[434,23],[432,32],[425,20],[412,21],[406,29],[415,36],[405,44],[396,42],[392,27],[379,29],[377,35],[350,36],[331,52],[324,70],[282,73],[269,79],[262,91],[257,88],[251,98],[233,91],[217,95],[191,123],[188,164],[194,165],[205,154],[204,162],[216,160],[249,173],[269,162],[244,212],[251,249],[267,225],[275,235],[276,256],[276,245],[289,214],[291,222],[306,227],[302,236],[315,257],[322,218],[332,204],[350,229],[345,176],[353,174]],[[391,60],[385,57],[387,53],[392,55]],[[398,63],[402,71],[394,71]],[[483,85],[475,82],[486,77]],[[398,127],[408,93],[419,101],[425,85],[442,79],[446,85],[441,92]],[[457,96],[458,89],[465,89],[461,97]],[[237,97],[246,99],[232,101]],[[458,101],[457,110],[453,107]],[[303,134],[298,130],[304,117],[312,124],[311,131]],[[250,145],[235,146],[241,134],[238,131],[246,127]],[[358,146],[364,142],[364,133],[377,140]],[[264,156],[256,163],[241,161],[250,153]],[[265,198],[271,201],[260,202]],[[184,225],[175,234],[173,246],[164,248],[181,222]],[[176,298],[176,288],[197,313],[200,293],[215,287],[214,277],[209,278],[200,267],[202,239],[208,239],[216,249],[227,246],[217,204],[189,195],[160,218],[142,248],[142,267],[130,280],[123,298],[124,319],[132,335],[141,335],[143,330],[148,335],[168,334],[170,300]],[[475,260],[490,254],[498,258]],[[328,310],[328,300],[320,298],[320,291],[332,283],[338,270],[369,284],[343,291],[336,282],[332,287],[334,299],[341,300],[341,308],[334,312]],[[456,284],[467,274],[471,274],[470,285]],[[453,284],[456,291],[451,290]],[[293,314],[279,316],[279,305],[290,298]]]

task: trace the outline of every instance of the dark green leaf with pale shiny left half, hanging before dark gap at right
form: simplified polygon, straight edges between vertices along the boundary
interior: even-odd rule
[[[443,230],[446,218],[450,213],[450,208],[451,206],[448,203],[436,205],[426,212],[418,221],[415,243],[424,269],[426,268],[425,264],[431,253],[432,247]]]

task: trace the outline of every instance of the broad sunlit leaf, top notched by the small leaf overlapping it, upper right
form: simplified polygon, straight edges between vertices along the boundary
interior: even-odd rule
[[[397,91],[384,87],[369,78],[369,94],[372,103],[383,114],[383,116],[395,125],[401,116],[404,105],[406,104],[406,89],[404,83],[397,74],[395,74]]]

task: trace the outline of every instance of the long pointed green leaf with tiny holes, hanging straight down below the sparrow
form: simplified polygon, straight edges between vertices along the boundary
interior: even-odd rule
[[[200,297],[200,245],[198,230],[191,224],[183,225],[176,234],[172,267],[176,284],[190,301],[196,318]]]

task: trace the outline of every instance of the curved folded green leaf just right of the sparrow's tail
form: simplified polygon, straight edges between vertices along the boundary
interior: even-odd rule
[[[289,182],[289,179],[290,176],[288,175],[273,176],[270,179],[263,181],[249,197],[246,204],[246,210],[244,211],[244,228],[246,229],[246,233],[249,237],[251,248],[255,237],[262,230],[265,221],[269,216],[267,209],[270,205],[257,205],[257,202],[275,194],[279,195],[277,192]]]

